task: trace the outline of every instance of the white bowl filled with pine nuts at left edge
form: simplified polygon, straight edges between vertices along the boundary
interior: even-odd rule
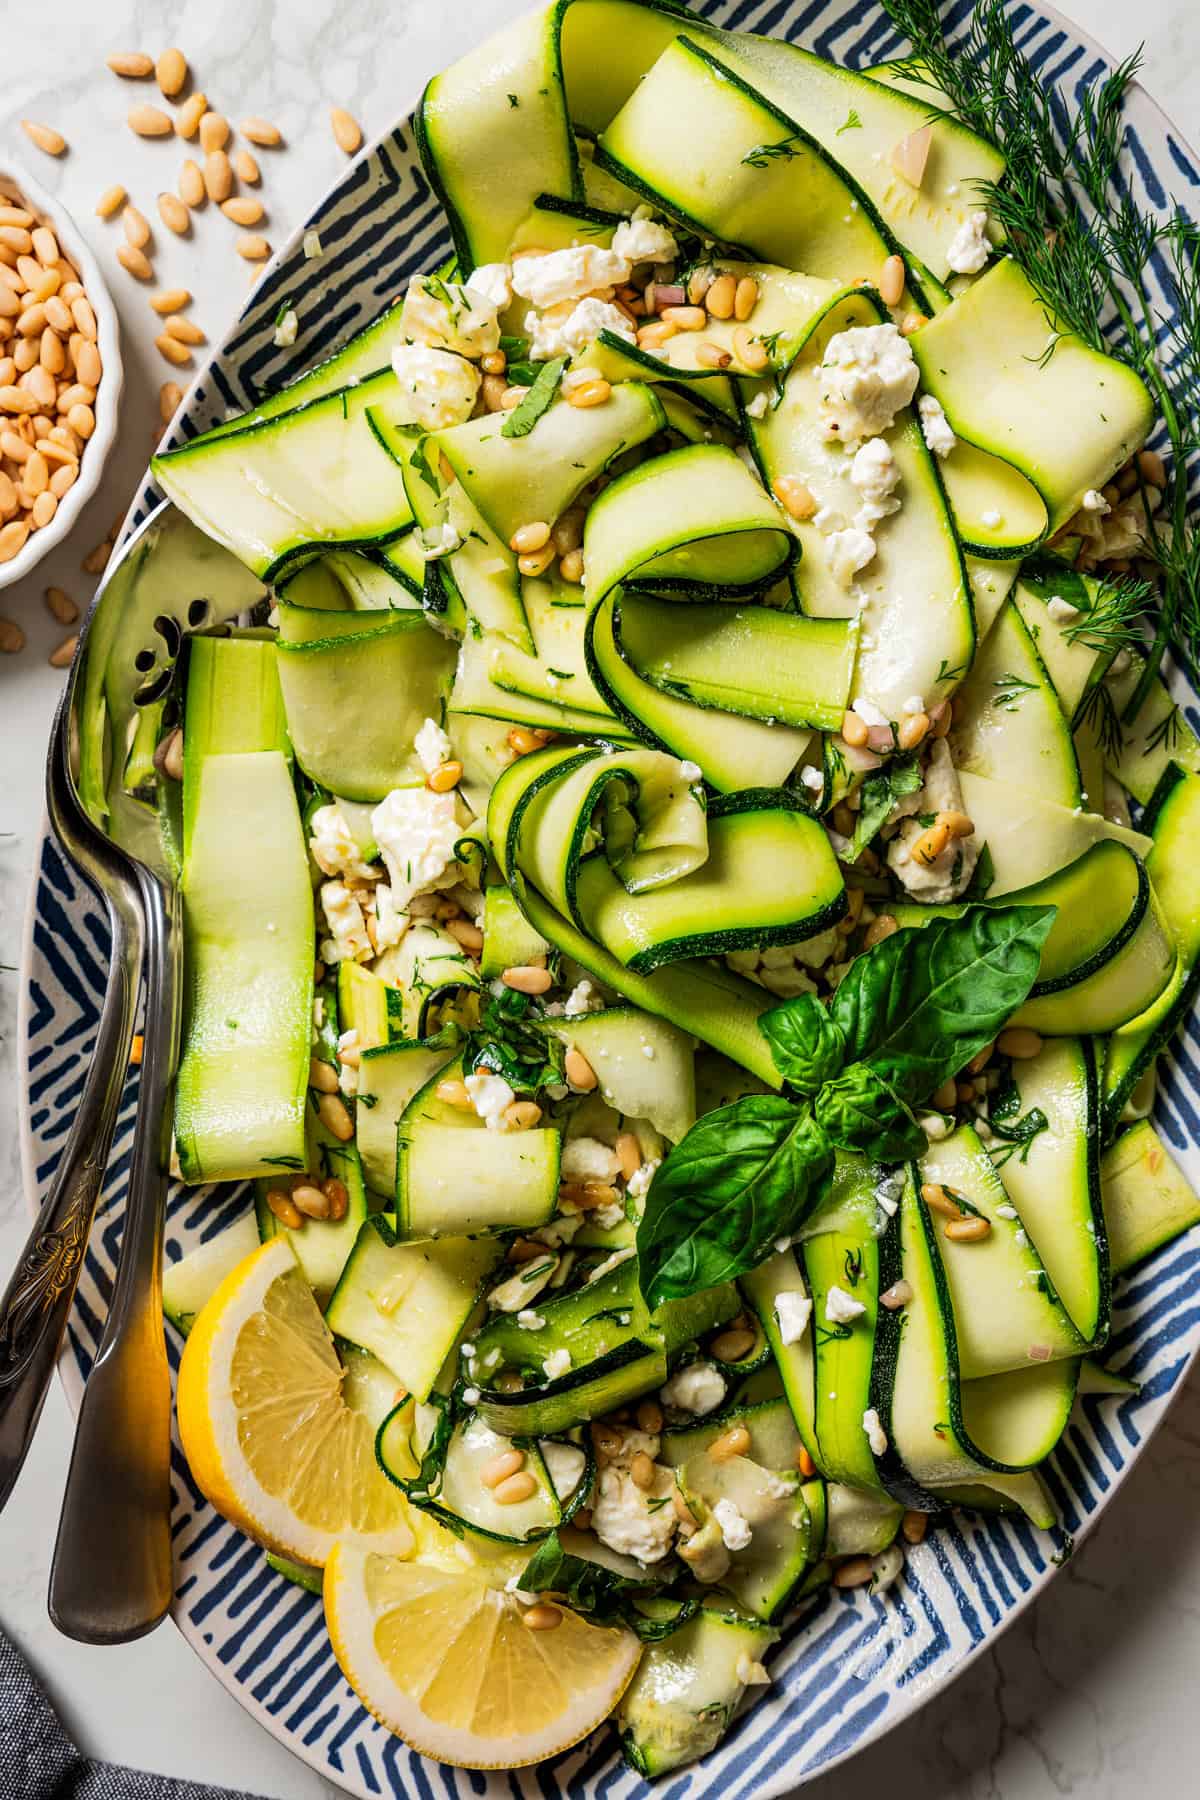
[[[104,470],[117,310],[70,216],[0,162],[0,589],[59,544]]]

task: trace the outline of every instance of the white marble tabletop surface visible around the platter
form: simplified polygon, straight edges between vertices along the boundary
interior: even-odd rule
[[[9,0],[13,14],[14,0]],[[9,7],[0,5],[0,16]],[[0,657],[0,963],[14,963],[25,889],[41,817],[41,758],[61,677],[45,662],[63,635],[41,608],[58,581],[85,599],[79,558],[103,538],[137,481],[158,416],[158,383],[173,374],[153,349],[155,319],[115,263],[117,227],[94,218],[95,196],[121,180],[153,218],[153,202],[180,149],[135,140],[124,113],[157,99],[104,67],[113,49],[157,52],[178,43],[196,83],[234,121],[277,119],[286,151],[263,151],[264,227],[282,241],[300,209],[336,175],[342,153],[327,126],[333,103],[371,135],[381,131],[441,63],[516,11],[515,0],[58,0],[45,29],[20,34],[0,86],[0,144],[38,160],[99,252],[122,315],[128,400],[124,437],[76,536],[25,590],[0,594],[0,612],[29,632],[20,657]],[[1146,86],[1193,142],[1200,23],[1171,0],[1069,0],[1070,13],[1110,52],[1146,40]],[[20,131],[43,119],[70,140],[49,164]],[[234,227],[201,218],[194,238],[158,227],[157,272],[196,295],[194,317],[218,338],[245,292]],[[0,970],[0,1271],[25,1233],[16,1150],[16,979]],[[191,1778],[225,1782],[273,1800],[333,1800],[335,1789],[261,1732],[164,1625],[124,1649],[59,1638],[45,1613],[45,1580],[70,1445],[61,1391],[22,1481],[0,1516],[0,1622],[23,1645],[77,1741],[94,1755]],[[867,1800],[880,1791],[925,1800],[1124,1800],[1193,1793],[1200,1719],[1200,1386],[1193,1382],[1137,1476],[1045,1600],[982,1656],[941,1699],[810,1789],[813,1800]],[[40,1796],[29,1796],[40,1800]]]

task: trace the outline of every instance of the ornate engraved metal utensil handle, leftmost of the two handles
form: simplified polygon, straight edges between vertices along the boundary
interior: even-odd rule
[[[142,920],[106,895],[112,968],[79,1112],[63,1161],[0,1300],[0,1508],[22,1472],[67,1318],[121,1107],[142,961]]]

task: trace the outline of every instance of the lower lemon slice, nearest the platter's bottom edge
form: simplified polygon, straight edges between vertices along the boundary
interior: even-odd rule
[[[333,1654],[363,1706],[426,1757],[515,1769],[578,1744],[624,1694],[631,1631],[563,1611],[522,1624],[480,1566],[405,1562],[340,1543],[326,1564]]]

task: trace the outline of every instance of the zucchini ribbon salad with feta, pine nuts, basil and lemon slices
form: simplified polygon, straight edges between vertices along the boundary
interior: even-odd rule
[[[257,1192],[184,1447],[446,1762],[673,1769],[824,1584],[1056,1528],[1200,1215],[1196,238],[1132,65],[887,11],[520,18],[419,108],[452,259],[155,461],[263,583],[178,720],[178,1170]]]

